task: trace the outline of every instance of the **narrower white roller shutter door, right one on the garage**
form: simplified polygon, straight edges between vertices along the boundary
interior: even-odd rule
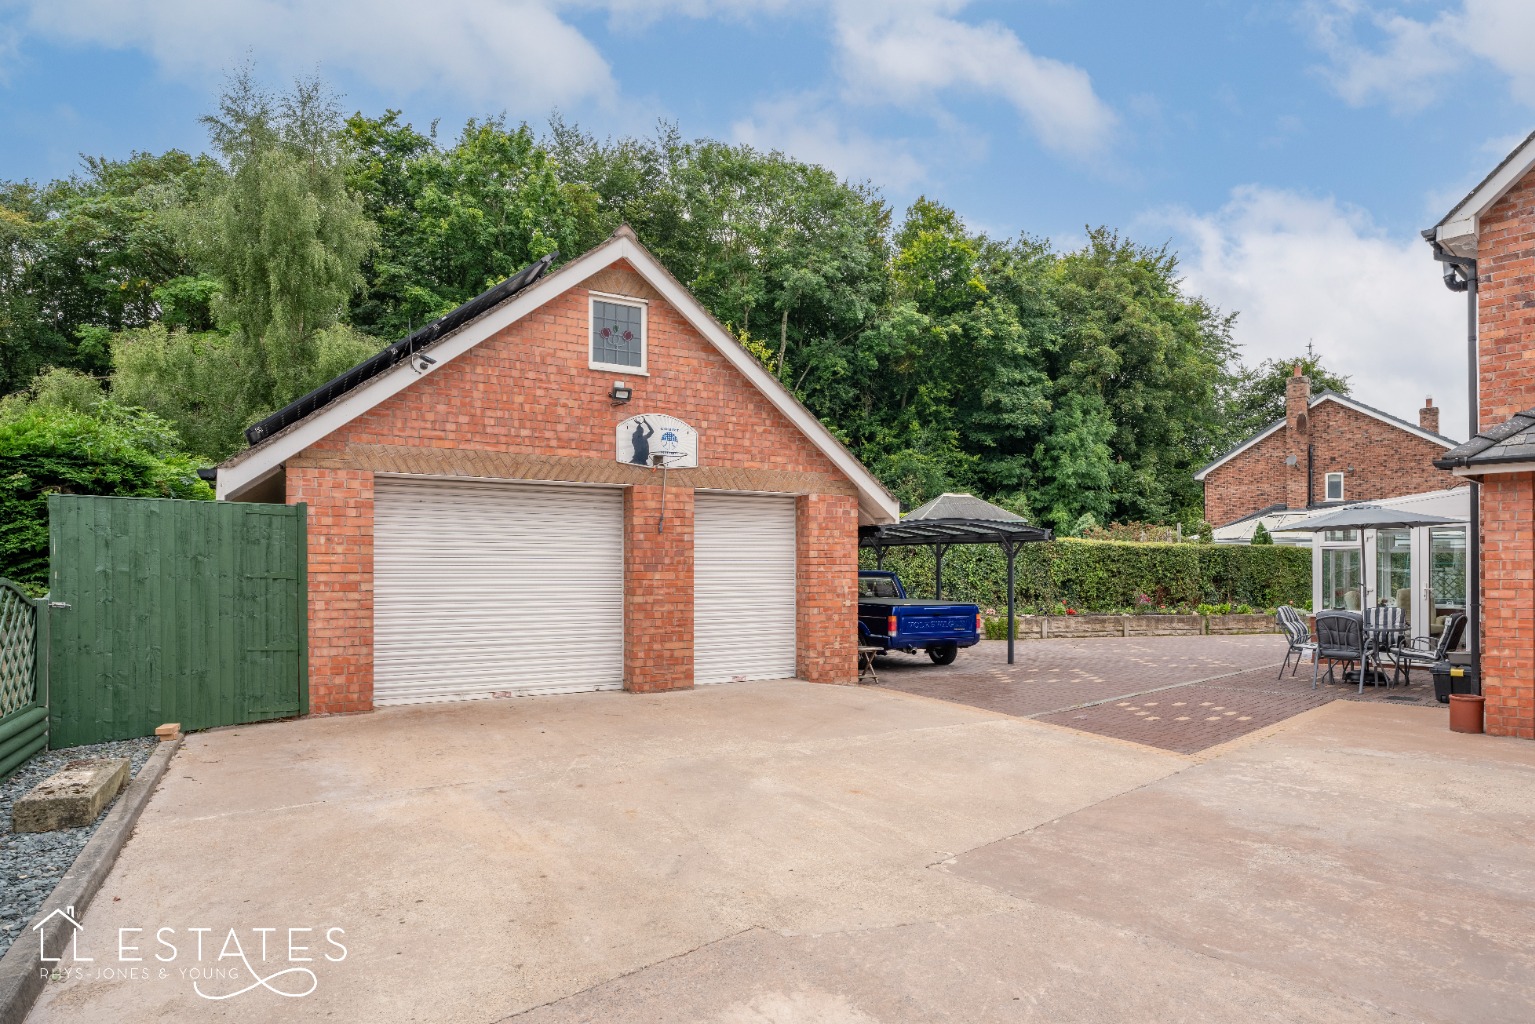
[[[795,674],[794,499],[694,494],[694,682]]]

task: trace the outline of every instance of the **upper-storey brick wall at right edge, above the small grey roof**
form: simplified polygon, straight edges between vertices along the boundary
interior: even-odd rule
[[[1535,172],[1481,218],[1477,239],[1481,425],[1535,405]]]

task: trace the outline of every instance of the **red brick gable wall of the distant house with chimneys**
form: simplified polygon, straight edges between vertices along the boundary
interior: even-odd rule
[[[1398,494],[1420,494],[1464,481],[1434,468],[1444,448],[1374,416],[1339,402],[1311,407],[1311,444],[1315,445],[1312,500],[1326,500],[1326,474],[1343,473],[1343,500],[1363,502]],[[1297,465],[1285,465],[1294,454]],[[1276,431],[1205,477],[1205,519],[1220,527],[1259,508],[1289,504],[1286,485],[1299,477],[1296,494],[1305,500],[1306,448],[1285,430]],[[1291,505],[1296,507],[1296,505]]]

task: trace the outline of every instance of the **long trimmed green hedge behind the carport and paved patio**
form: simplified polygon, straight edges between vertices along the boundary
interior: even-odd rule
[[[873,568],[873,551],[860,551]],[[932,548],[890,548],[884,568],[907,591],[933,593]],[[1197,605],[1308,606],[1311,548],[1283,545],[1124,543],[1061,539],[1025,545],[1016,562],[1018,603],[1048,611],[1150,611]],[[995,547],[966,545],[944,554],[944,597],[984,609],[1007,606],[1007,560]]]

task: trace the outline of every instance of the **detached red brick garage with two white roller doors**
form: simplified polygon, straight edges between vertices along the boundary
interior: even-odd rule
[[[895,499],[623,227],[247,431],[221,500],[309,505],[315,712],[857,680]]]

